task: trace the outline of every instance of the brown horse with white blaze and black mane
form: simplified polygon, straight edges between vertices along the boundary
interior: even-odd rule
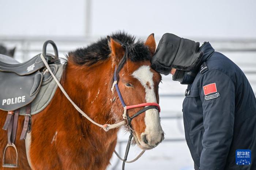
[[[128,44],[128,55],[121,43]],[[127,105],[158,103],[161,75],[150,67],[155,52],[154,34],[146,42],[124,32],[102,38],[86,48],[69,52],[61,84],[70,98],[95,122],[113,124],[123,120],[123,106],[117,92],[110,90],[114,69],[118,67],[118,87]],[[132,116],[141,108],[128,110]],[[6,111],[0,110],[0,126]],[[17,136],[23,116],[19,116]],[[156,109],[147,110],[132,120],[135,142],[144,150],[163,140],[163,130]],[[117,143],[118,129],[105,132],[84,118],[58,88],[50,104],[32,116],[30,145],[31,169],[103,170],[110,163]],[[16,138],[19,169],[30,169],[25,142]],[[0,160],[7,143],[7,131],[0,130]],[[7,150],[6,162],[15,162],[15,153]],[[2,162],[0,162],[0,167]],[[1,167],[3,168],[3,167]]]

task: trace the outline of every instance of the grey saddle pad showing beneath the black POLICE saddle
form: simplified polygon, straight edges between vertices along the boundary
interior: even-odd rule
[[[63,74],[63,68],[65,67],[63,64],[49,64],[51,70],[53,71],[53,74],[56,76],[56,78],[60,81],[61,76]],[[49,72],[46,72],[46,74],[49,74]],[[42,86],[36,96],[36,98],[31,103],[31,115],[37,114],[45,109],[46,106],[50,103],[52,100],[56,90],[57,90],[57,84],[50,75],[48,78],[43,79]],[[26,114],[26,107],[20,108],[20,115]]]

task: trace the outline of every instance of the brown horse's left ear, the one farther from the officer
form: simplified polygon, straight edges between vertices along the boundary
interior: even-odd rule
[[[107,37],[108,37],[109,49],[111,51],[110,55],[112,57],[112,62],[113,62],[113,64],[118,65],[121,58],[124,56],[125,50],[124,50],[124,48],[122,47],[122,45],[120,43],[115,41],[110,36],[107,36]]]

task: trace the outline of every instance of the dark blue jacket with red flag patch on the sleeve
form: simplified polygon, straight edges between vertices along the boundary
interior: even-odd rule
[[[183,102],[185,138],[200,170],[256,170],[256,99],[241,69],[204,44],[200,70]],[[207,68],[205,68],[207,67]],[[215,84],[214,84],[215,83]],[[236,150],[251,165],[236,165]]]

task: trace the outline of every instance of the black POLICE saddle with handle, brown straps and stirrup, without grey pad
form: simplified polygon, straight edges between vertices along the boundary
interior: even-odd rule
[[[46,55],[47,44],[52,44],[55,55]],[[46,59],[48,64],[60,63],[57,47],[52,40],[45,41],[42,54],[36,55],[25,63],[19,63],[8,56],[0,55],[0,110],[8,111],[3,126],[3,130],[8,131],[8,143],[3,153],[2,167],[19,167],[18,151],[14,143],[20,109],[26,106],[23,129],[20,134],[20,140],[23,140],[31,131],[31,102],[37,96],[44,79],[48,80],[50,76],[50,74],[44,74],[48,70],[46,70],[41,56]],[[50,67],[50,69],[52,70],[54,67]],[[16,162],[14,164],[5,163],[5,151],[8,147],[15,149]]]

